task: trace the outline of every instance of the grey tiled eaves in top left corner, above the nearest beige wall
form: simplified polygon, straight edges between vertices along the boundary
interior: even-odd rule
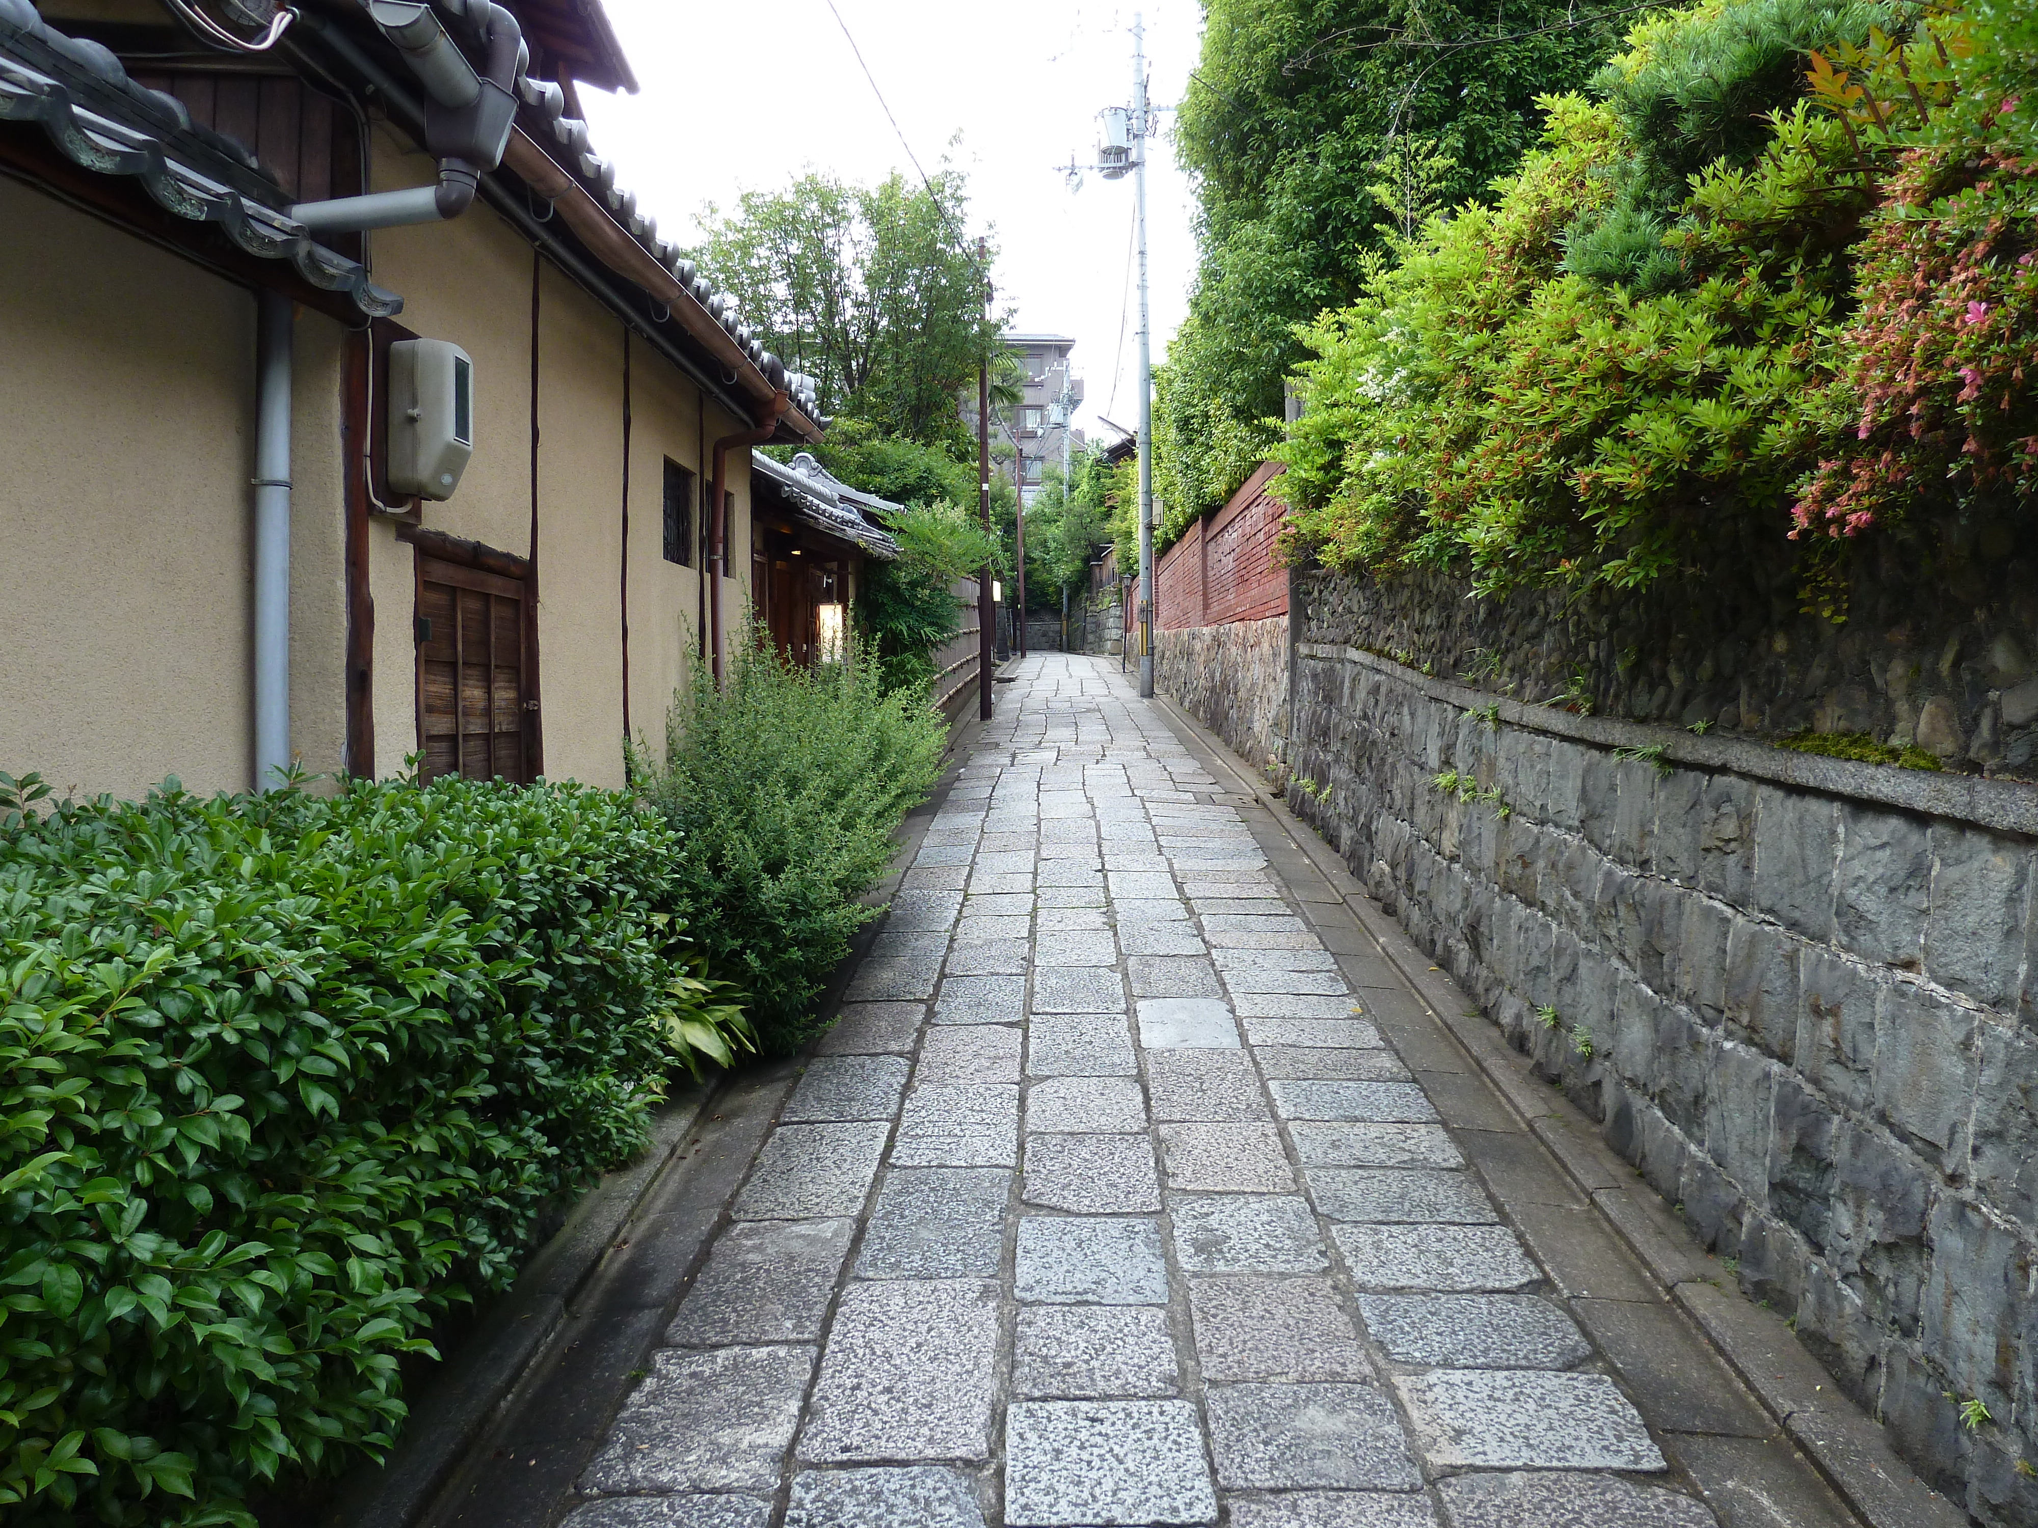
[[[47,26],[29,0],[0,0],[0,122],[41,126],[79,169],[132,177],[165,212],[214,224],[247,255],[287,261],[369,318],[404,310],[357,261],[291,222],[281,187],[230,141],[196,128],[173,96],[137,86],[98,43]]]

